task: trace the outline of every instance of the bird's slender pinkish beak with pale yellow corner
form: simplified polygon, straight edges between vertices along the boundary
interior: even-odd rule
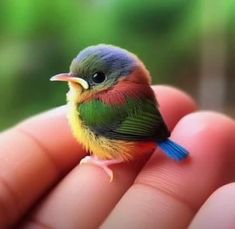
[[[50,78],[50,81],[67,81],[80,84],[85,90],[89,88],[86,80],[75,77],[71,73],[61,73]]]

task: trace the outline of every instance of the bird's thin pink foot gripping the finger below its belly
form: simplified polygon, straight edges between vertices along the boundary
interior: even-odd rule
[[[80,161],[80,164],[91,163],[93,165],[96,165],[96,166],[102,168],[104,170],[104,172],[109,176],[110,183],[111,183],[113,180],[113,171],[108,166],[119,164],[119,163],[122,163],[123,161],[124,160],[121,158],[120,159],[113,159],[113,160],[102,160],[96,156],[86,156]]]

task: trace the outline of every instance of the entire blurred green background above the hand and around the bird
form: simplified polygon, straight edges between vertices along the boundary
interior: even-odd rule
[[[88,45],[135,52],[154,83],[235,116],[233,0],[1,0],[0,130],[65,103],[68,71]]]

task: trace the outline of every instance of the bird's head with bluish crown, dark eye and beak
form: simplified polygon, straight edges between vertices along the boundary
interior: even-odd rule
[[[77,102],[109,90],[121,81],[150,83],[150,76],[143,63],[134,54],[112,45],[90,46],[73,59],[69,73],[61,73],[51,81],[67,81],[68,99]]]

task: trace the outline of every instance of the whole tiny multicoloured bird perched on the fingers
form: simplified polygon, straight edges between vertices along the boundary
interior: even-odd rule
[[[68,120],[75,138],[90,152],[82,162],[104,169],[152,152],[158,145],[179,161],[188,151],[169,139],[158,110],[151,76],[133,53],[99,44],[82,50],[69,73],[51,81],[67,81]]]

